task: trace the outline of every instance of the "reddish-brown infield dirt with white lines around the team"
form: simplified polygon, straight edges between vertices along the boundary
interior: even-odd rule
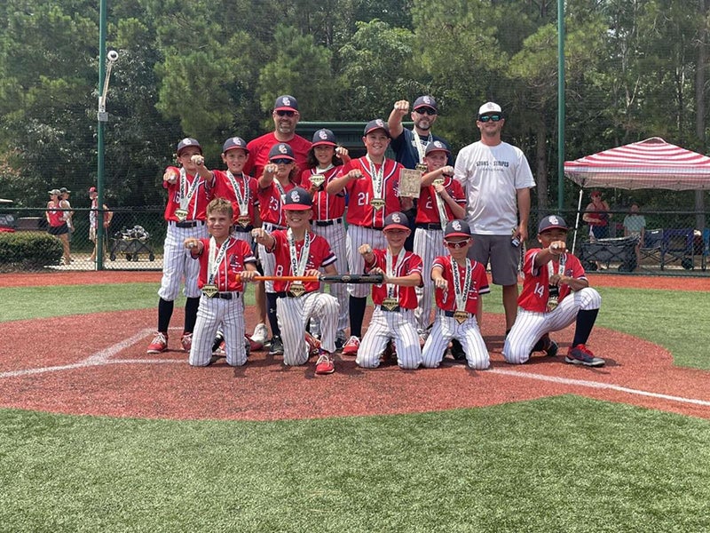
[[[138,281],[157,285],[160,273],[0,275],[0,286]],[[644,289],[678,290],[679,285],[678,278],[609,274],[591,275],[590,281]],[[683,278],[680,285],[710,290],[710,279]],[[335,374],[316,376],[314,360],[288,368],[280,357],[264,352],[252,354],[238,369],[224,359],[193,369],[186,354],[177,351],[183,321],[177,309],[170,330],[173,351],[148,355],[155,320],[155,310],[140,310],[5,322],[4,346],[13,348],[0,362],[0,405],[114,417],[275,420],[413,413],[579,394],[710,418],[710,372],[676,368],[660,346],[602,328],[590,341],[607,361],[601,369],[565,364],[564,356],[535,355],[528,364],[508,365],[501,356],[501,316],[489,314],[483,333],[491,370],[468,370],[448,359],[437,370],[404,371],[392,362],[361,370],[353,358],[341,357]],[[253,327],[253,320],[247,322]],[[57,342],[59,331],[64,342]],[[572,328],[554,338],[563,341],[564,353]]]

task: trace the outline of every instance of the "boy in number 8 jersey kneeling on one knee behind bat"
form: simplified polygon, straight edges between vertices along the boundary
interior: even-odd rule
[[[267,165],[268,166],[268,165]],[[288,229],[271,234],[264,228],[254,230],[256,242],[274,258],[274,273],[288,276],[317,276],[319,268],[326,274],[337,274],[335,255],[326,239],[311,231],[312,197],[301,187],[286,193],[283,211]],[[319,282],[275,281],[276,316],[283,339],[283,362],[301,365],[308,361],[310,346],[305,340],[305,326],[316,316],[320,322],[320,355],[316,374],[335,371],[335,327],[338,300],[320,292]]]

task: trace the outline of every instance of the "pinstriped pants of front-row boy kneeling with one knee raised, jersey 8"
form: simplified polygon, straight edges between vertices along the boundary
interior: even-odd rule
[[[309,346],[305,342],[305,325],[312,316],[320,322],[320,346],[335,352],[335,326],[340,306],[335,296],[313,291],[299,298],[276,300],[276,319],[279,321],[283,341],[283,362],[299,365],[308,362]]]

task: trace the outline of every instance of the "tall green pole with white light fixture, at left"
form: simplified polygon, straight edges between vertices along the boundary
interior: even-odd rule
[[[99,0],[99,112],[97,113],[97,180],[96,192],[98,211],[96,212],[96,269],[104,269],[104,127],[108,122],[106,113],[106,92],[108,91],[108,78],[111,68],[118,59],[118,52],[114,50],[106,53],[106,0]],[[106,68],[108,60],[108,68]]]

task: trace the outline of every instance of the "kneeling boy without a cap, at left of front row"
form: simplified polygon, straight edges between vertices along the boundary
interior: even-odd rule
[[[232,203],[215,198],[207,206],[209,238],[188,237],[184,246],[199,259],[198,287],[202,291],[189,362],[207,366],[212,362],[212,345],[217,327],[223,328],[227,364],[247,362],[244,346],[244,301],[242,282],[256,274],[256,258],[246,241],[230,235]]]

